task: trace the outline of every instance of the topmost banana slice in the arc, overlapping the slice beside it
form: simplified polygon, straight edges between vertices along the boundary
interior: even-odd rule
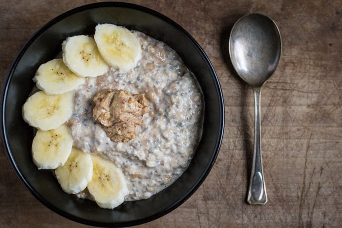
[[[94,39],[105,61],[121,71],[134,68],[141,59],[141,45],[127,28],[114,24],[95,27]]]

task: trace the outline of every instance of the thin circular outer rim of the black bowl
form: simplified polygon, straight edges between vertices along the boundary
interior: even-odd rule
[[[219,114],[220,114],[219,115],[220,116],[219,126],[220,126],[220,129],[218,131],[219,135],[218,135],[216,142],[214,144],[215,145],[214,146],[214,153],[211,156],[210,163],[209,163],[210,165],[206,167],[206,170],[203,172],[200,179],[198,179],[196,181],[196,184],[192,187],[192,189],[190,189],[184,197],[182,197],[180,200],[174,202],[173,205],[168,207],[166,210],[159,211],[159,213],[153,214],[152,216],[146,217],[144,219],[139,219],[139,220],[129,221],[129,222],[120,222],[120,223],[115,223],[115,224],[103,224],[103,223],[94,222],[94,221],[86,220],[86,219],[71,215],[67,211],[60,210],[59,208],[57,208],[56,206],[54,206],[53,204],[46,201],[45,199],[43,199],[40,196],[39,192],[37,192],[30,185],[30,183],[28,183],[28,181],[24,178],[24,176],[22,175],[22,173],[20,171],[18,164],[16,163],[16,161],[13,157],[13,154],[12,154],[12,151],[11,151],[11,148],[9,145],[9,140],[7,137],[7,128],[6,128],[6,124],[5,124],[6,118],[5,118],[5,112],[4,112],[6,100],[7,100],[7,93],[8,93],[8,89],[9,89],[9,84],[11,82],[11,79],[13,77],[13,74],[15,72],[17,65],[21,60],[22,55],[29,48],[29,46],[32,44],[32,42],[34,42],[46,29],[48,29],[51,25],[57,23],[58,21],[61,21],[61,20],[65,19],[68,16],[71,16],[75,13],[82,12],[85,10],[90,10],[93,8],[99,8],[99,7],[124,7],[124,8],[139,10],[139,11],[148,13],[152,16],[155,16],[155,17],[157,17],[163,21],[166,21],[167,23],[169,23],[173,27],[175,27],[177,30],[179,30],[182,34],[185,35],[185,37],[187,39],[189,39],[191,41],[191,43],[198,50],[198,52],[201,54],[202,58],[205,60],[208,67],[210,68],[210,70],[212,72],[213,80],[215,83],[215,87],[216,87],[216,93],[217,93],[217,96],[219,98]],[[210,62],[208,56],[206,55],[204,50],[200,47],[200,45],[197,43],[197,41],[195,41],[194,38],[192,38],[192,36],[184,28],[182,28],[178,23],[176,23],[175,21],[171,20],[167,16],[165,16],[165,15],[163,15],[163,14],[161,14],[155,10],[152,10],[150,8],[147,8],[147,7],[141,6],[141,5],[137,5],[137,4],[126,3],[126,2],[114,2],[114,1],[90,3],[90,4],[86,4],[86,5],[82,5],[82,6],[70,9],[70,10],[60,14],[59,16],[53,18],[52,20],[45,23],[42,27],[40,27],[28,39],[28,41],[26,41],[26,43],[21,47],[19,53],[17,54],[17,56],[14,59],[14,62],[10,66],[9,72],[6,76],[6,79],[4,81],[4,86],[2,89],[0,111],[1,111],[1,136],[2,136],[3,146],[5,148],[7,157],[10,161],[10,165],[12,166],[13,170],[15,171],[15,173],[17,174],[19,179],[21,180],[21,183],[30,191],[30,193],[36,199],[38,199],[38,201],[40,201],[45,207],[49,208],[50,210],[54,211],[55,213],[62,215],[63,217],[68,218],[68,219],[75,221],[75,222],[79,222],[79,223],[86,224],[86,225],[92,225],[92,226],[100,226],[100,227],[109,227],[109,226],[111,226],[111,227],[122,227],[122,226],[129,227],[129,226],[135,226],[135,225],[147,223],[147,222],[150,222],[150,221],[155,220],[157,218],[160,218],[167,213],[170,213],[172,210],[179,207],[187,199],[189,199],[192,196],[192,194],[198,189],[198,187],[201,186],[201,184],[204,182],[204,180],[208,176],[210,170],[214,166],[215,160],[216,160],[217,155],[218,155],[219,150],[220,150],[220,146],[222,144],[223,134],[224,134],[224,122],[225,122],[224,100],[223,100],[223,94],[222,94],[222,90],[221,90],[221,86],[220,86],[218,77],[217,77],[216,72],[214,70],[213,64]]]

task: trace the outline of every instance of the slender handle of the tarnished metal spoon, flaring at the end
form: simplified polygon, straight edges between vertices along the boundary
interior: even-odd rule
[[[254,88],[255,102],[255,134],[254,134],[254,150],[253,164],[251,172],[251,180],[248,189],[247,202],[249,204],[266,204],[267,195],[265,188],[264,172],[261,160],[261,141],[260,141],[260,94],[261,88]]]

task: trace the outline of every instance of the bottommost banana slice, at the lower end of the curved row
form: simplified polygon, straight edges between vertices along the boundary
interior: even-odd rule
[[[97,205],[113,209],[119,206],[128,195],[125,176],[121,169],[106,159],[91,155],[93,176],[88,183],[88,191]]]

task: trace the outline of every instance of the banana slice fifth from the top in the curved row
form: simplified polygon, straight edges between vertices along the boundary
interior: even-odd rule
[[[38,130],[32,142],[32,159],[39,169],[54,169],[68,159],[73,139],[63,124],[49,131]]]

